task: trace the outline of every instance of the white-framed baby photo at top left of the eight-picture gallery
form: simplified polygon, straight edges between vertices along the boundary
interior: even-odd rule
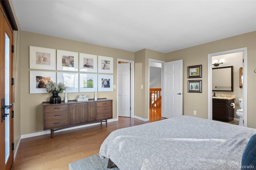
[[[29,46],[29,68],[56,70],[56,50]]]

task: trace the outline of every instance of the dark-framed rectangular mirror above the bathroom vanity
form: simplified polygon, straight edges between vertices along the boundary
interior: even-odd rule
[[[233,66],[212,68],[212,91],[233,92]]]

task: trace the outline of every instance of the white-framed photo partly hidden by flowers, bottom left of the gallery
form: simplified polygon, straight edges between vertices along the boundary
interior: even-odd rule
[[[56,82],[56,72],[29,71],[29,93],[47,93],[45,85],[50,81]]]

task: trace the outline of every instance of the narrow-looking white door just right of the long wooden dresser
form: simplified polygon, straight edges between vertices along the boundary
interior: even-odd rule
[[[130,63],[118,64],[118,116],[131,116],[130,74]]]

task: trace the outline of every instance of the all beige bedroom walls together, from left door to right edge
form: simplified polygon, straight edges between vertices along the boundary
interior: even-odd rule
[[[19,87],[16,86],[16,92],[20,88],[20,133],[30,134],[40,132],[42,127],[42,102],[48,101],[50,94],[29,94],[29,46],[39,46],[45,48],[54,48],[60,50],[110,56],[114,58],[114,84],[116,84],[116,59],[126,59],[135,61],[135,116],[148,119],[148,59],[155,60],[180,60],[183,59],[184,72],[184,115],[193,115],[193,110],[197,111],[198,117],[208,118],[207,115],[207,54],[220,52],[235,48],[248,47],[248,126],[256,128],[256,120],[253,110],[255,106],[254,84],[255,84],[255,56],[256,56],[256,32],[243,34],[191,48],[177,50],[164,54],[153,50],[140,50],[138,52],[129,52],[84,42],[77,42],[63,38],[46,36],[32,32],[20,31],[20,78]],[[166,57],[166,59],[165,59]],[[187,66],[202,64],[202,93],[187,92]],[[18,70],[19,71],[19,70]],[[40,70],[42,71],[42,70]],[[143,85],[143,89],[141,89]],[[18,92],[19,94],[19,92]],[[89,98],[93,98],[93,92],[85,93]],[[16,94],[17,95],[17,94]],[[78,93],[68,93],[68,100],[76,99]],[[60,94],[64,98],[64,94]],[[98,92],[98,98],[113,99],[113,118],[116,118],[116,89],[114,92]],[[197,98],[192,103],[191,100]],[[17,101],[16,101],[17,102]],[[19,117],[18,117],[19,118]],[[15,126],[19,122],[15,120]],[[17,129],[18,130],[18,129]],[[16,134],[16,132],[15,132]]]

